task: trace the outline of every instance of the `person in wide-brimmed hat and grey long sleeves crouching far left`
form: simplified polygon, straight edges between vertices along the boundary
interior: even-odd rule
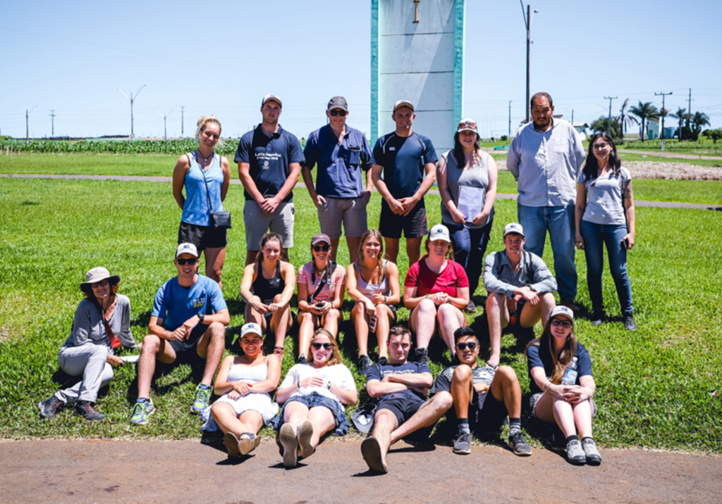
[[[75,310],[70,336],[58,353],[61,369],[82,380],[38,403],[41,417],[53,418],[66,404],[74,403],[76,415],[105,419],[94,404],[97,392],[113,378],[113,368],[123,364],[113,349],[138,347],[130,330],[130,300],[117,293],[120,280],[105,268],[93,268],[85,275],[80,290],[86,299]]]

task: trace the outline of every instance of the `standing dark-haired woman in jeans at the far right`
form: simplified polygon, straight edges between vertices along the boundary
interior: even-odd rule
[[[617,287],[617,296],[627,330],[637,329],[632,316],[632,285],[627,274],[627,250],[634,247],[635,213],[632,176],[622,167],[617,147],[606,133],[596,133],[589,141],[586,165],[577,180],[575,207],[576,246],[584,251],[587,285],[593,315],[591,323],[604,318],[601,299],[601,272],[604,250]]]

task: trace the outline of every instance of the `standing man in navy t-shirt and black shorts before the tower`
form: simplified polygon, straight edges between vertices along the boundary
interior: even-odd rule
[[[386,257],[396,262],[403,231],[409,266],[419,260],[421,240],[428,231],[424,195],[434,185],[438,161],[430,139],[412,131],[415,117],[412,102],[396,102],[391,115],[396,131],[376,141],[371,158],[373,183],[383,196],[378,230]]]

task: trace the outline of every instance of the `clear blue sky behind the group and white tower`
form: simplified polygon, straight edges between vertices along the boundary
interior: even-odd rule
[[[383,1],[383,0],[382,0]],[[411,0],[409,0],[411,1]],[[421,0],[427,1],[427,0]],[[526,5],[526,1],[525,1]],[[625,98],[687,107],[722,127],[722,2],[533,0],[531,92],[547,91],[569,120],[612,113]],[[370,133],[370,2],[6,2],[0,134],[128,134],[134,94],[136,136],[194,132],[214,113],[223,136],[260,120],[261,97],[284,100],[281,123],[297,136],[326,122],[326,102],[349,101],[349,124]],[[482,136],[512,130],[523,118],[526,32],[518,0],[466,0],[464,115]],[[674,120],[671,120],[674,122]],[[423,132],[421,132],[423,133]]]

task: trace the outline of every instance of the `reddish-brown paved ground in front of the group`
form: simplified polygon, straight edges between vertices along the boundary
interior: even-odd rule
[[[358,441],[322,443],[284,469],[275,443],[243,460],[198,441],[0,442],[2,503],[719,503],[722,458],[602,450],[575,467],[535,449],[497,446],[459,456],[398,443],[389,474],[371,474]]]

